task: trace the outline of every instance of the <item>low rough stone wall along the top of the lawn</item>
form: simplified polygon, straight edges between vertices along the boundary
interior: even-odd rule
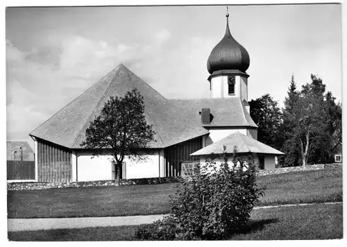
[[[342,167],[341,163],[335,164],[314,164],[307,167],[283,167],[271,170],[259,170],[257,176],[271,174],[282,174],[293,171],[310,171],[320,169],[332,169]],[[88,182],[8,182],[7,189],[12,190],[33,190],[33,189],[56,189],[56,188],[78,188],[78,187],[101,187],[118,185],[158,185],[163,183],[182,182],[189,177],[167,177],[167,178],[138,178],[120,180],[119,184],[115,180],[88,181]]]

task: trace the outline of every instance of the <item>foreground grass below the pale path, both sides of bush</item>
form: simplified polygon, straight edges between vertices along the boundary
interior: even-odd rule
[[[232,240],[341,239],[342,205],[309,205],[253,210],[243,234]],[[12,241],[136,240],[137,226],[8,232]]]

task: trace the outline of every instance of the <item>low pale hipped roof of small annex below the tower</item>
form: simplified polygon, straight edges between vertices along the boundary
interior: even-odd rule
[[[234,147],[237,147],[237,153],[269,153],[274,155],[284,155],[284,153],[267,146],[256,139],[243,135],[238,131],[228,135],[218,142],[205,146],[191,155],[210,155],[223,154],[223,146],[226,146],[226,153],[234,153]]]

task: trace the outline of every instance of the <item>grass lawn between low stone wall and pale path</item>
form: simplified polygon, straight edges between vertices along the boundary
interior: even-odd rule
[[[342,169],[299,171],[257,178],[257,205],[342,201]],[[169,212],[175,184],[8,191],[8,218],[126,216]]]

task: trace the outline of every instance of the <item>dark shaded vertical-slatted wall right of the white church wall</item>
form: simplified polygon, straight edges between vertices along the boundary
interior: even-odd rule
[[[198,161],[198,156],[189,156],[203,148],[203,137],[189,139],[173,146],[164,148],[165,176],[180,176],[182,162]]]

